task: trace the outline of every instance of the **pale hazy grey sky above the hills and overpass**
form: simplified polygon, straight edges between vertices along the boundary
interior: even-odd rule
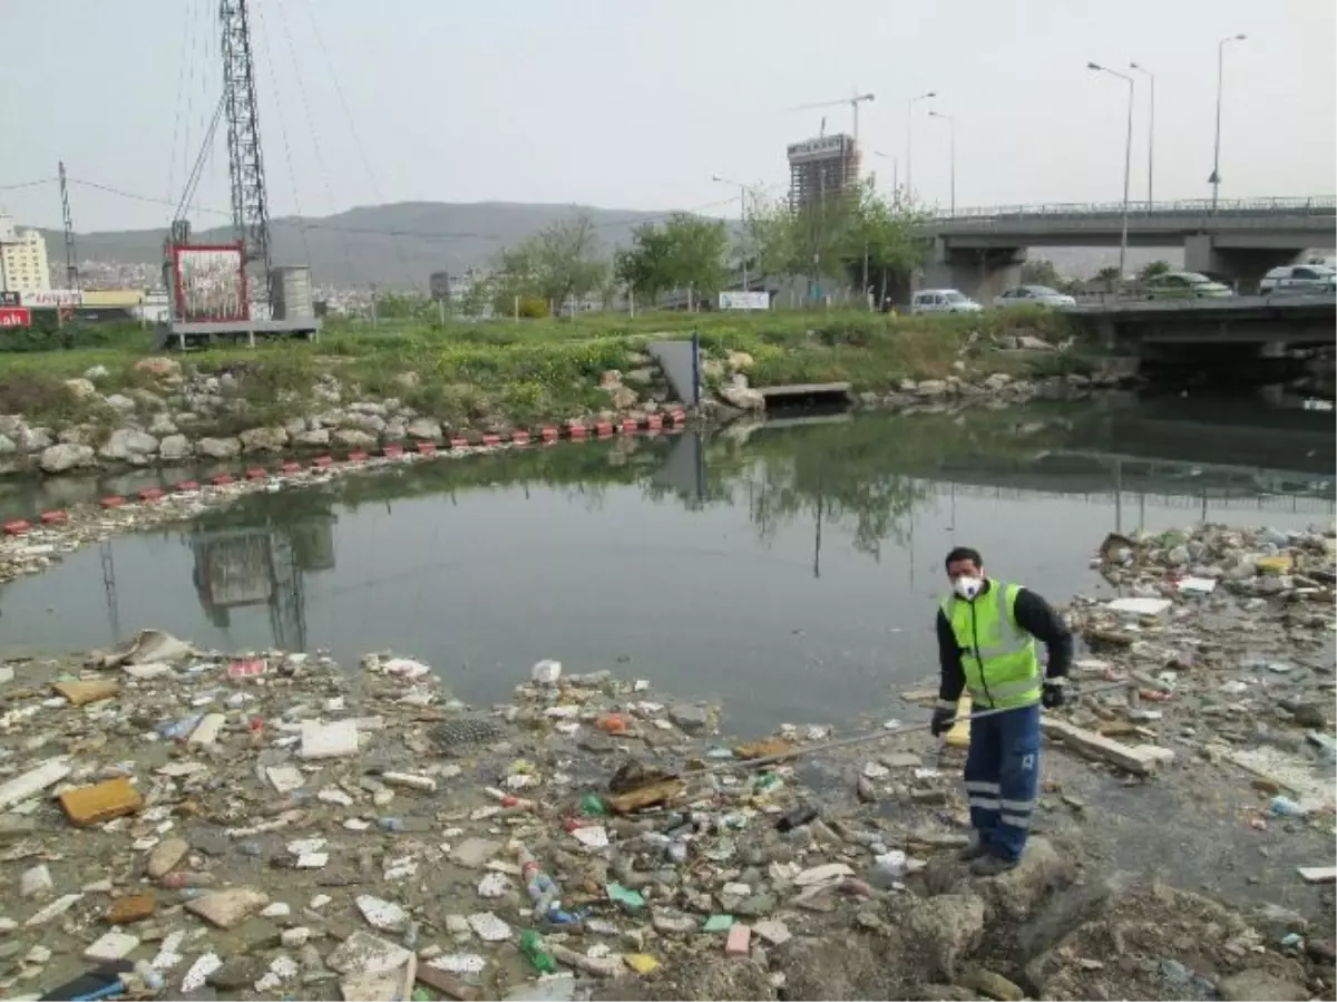
[[[730,211],[711,174],[783,190],[785,144],[850,127],[957,203],[1122,198],[1127,88],[1157,74],[1155,193],[1209,194],[1217,43],[1222,197],[1337,190],[1333,0],[253,0],[271,211],[393,201],[580,202]],[[4,0],[0,205],[59,225],[53,177],[176,199],[218,99],[217,0]],[[342,95],[342,96],[341,96]],[[1146,197],[1138,80],[1134,198]],[[198,205],[227,207],[219,134]],[[365,151],[365,155],[364,155]],[[889,185],[892,159],[866,154]],[[79,230],[158,227],[171,209],[83,185]],[[214,215],[195,213],[198,223]]]

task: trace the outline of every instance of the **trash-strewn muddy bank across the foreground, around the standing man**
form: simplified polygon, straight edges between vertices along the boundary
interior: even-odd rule
[[[1297,871],[1330,863],[1334,540],[1108,540],[1134,602],[1068,610],[1087,694],[1050,716],[1027,856],[983,880],[961,748],[905,726],[932,686],[849,722],[878,742],[757,767],[832,734],[727,741],[718,708],[551,662],[488,709],[388,654],[11,662],[0,989],[120,961],[186,998],[1337,997]]]

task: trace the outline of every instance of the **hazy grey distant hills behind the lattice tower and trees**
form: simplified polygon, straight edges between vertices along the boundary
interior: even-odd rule
[[[340,288],[376,282],[385,289],[427,290],[432,272],[457,274],[488,265],[507,245],[535,235],[556,219],[587,213],[607,250],[631,239],[640,222],[658,221],[662,211],[594,209],[578,205],[519,202],[396,202],[360,206],[321,218],[282,217],[271,221],[275,265],[309,264],[317,285]],[[44,230],[52,256],[63,234]],[[227,241],[231,230],[195,230],[193,239]],[[79,258],[118,265],[162,260],[163,230],[120,230],[76,234]]]

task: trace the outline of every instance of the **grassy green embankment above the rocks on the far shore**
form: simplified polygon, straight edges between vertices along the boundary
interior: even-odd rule
[[[889,317],[862,312],[765,314],[590,316],[574,320],[406,325],[332,324],[318,344],[270,344],[191,353],[183,361],[202,373],[233,372],[249,404],[249,427],[309,412],[324,375],[356,387],[364,399],[398,397],[455,425],[487,417],[515,423],[552,420],[604,409],[599,387],[607,369],[643,364],[655,337],[701,334],[714,357],[747,352],[754,385],[849,381],[856,392],[890,391],[905,379],[952,375],[965,359],[975,376],[1008,372],[1048,376],[1083,371],[1082,352],[1001,353],[989,338],[1071,336],[1068,321],[1048,312],[1007,310],[955,317]],[[971,334],[976,344],[964,356]],[[53,425],[110,423],[116,415],[96,400],[79,400],[64,380],[100,365],[103,393],[154,389],[135,363],[150,355],[148,337],[127,330],[96,348],[0,353],[0,413],[21,413]],[[346,397],[345,397],[346,399]]]

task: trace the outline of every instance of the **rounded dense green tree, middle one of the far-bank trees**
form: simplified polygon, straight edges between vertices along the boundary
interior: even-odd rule
[[[722,219],[674,213],[662,226],[631,233],[631,247],[615,258],[619,281],[652,302],[666,289],[694,289],[710,297],[723,288],[729,269],[729,230]]]

